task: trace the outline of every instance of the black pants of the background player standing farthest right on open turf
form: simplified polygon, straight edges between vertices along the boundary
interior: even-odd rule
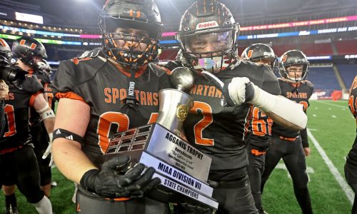
[[[265,170],[261,178],[261,192],[263,193],[266,180],[281,158],[293,179],[293,190],[301,210],[303,213],[312,213],[310,194],[308,193],[306,159],[300,137],[295,141],[288,141],[276,135],[272,136],[271,146],[266,153]]]

